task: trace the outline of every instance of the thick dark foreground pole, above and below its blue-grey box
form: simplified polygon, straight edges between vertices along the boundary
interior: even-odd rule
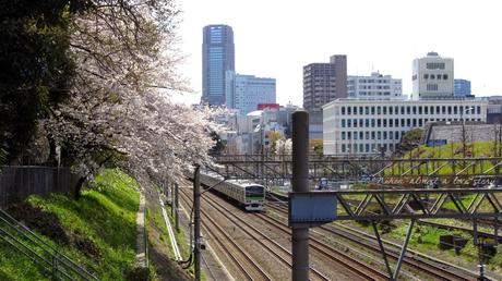
[[[309,192],[309,113],[292,113],[292,192]],[[292,225],[292,280],[309,280],[309,228]]]

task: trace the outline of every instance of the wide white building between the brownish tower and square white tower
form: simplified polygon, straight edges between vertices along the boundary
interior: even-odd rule
[[[403,95],[403,83],[379,72],[371,73],[371,76],[350,75],[347,77],[347,95],[349,98],[398,98]]]

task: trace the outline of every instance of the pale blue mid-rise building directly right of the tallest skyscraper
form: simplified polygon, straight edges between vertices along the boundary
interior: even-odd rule
[[[261,78],[254,75],[226,73],[227,108],[248,114],[260,103],[275,103],[275,78]]]

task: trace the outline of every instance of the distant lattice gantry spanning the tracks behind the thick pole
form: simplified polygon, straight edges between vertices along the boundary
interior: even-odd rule
[[[289,180],[291,156],[225,155],[215,157],[218,173],[232,179]],[[309,157],[311,180],[322,178],[389,185],[487,185],[500,176],[502,157],[354,158]]]

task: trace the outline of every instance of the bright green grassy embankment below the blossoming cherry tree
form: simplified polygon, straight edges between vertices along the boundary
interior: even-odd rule
[[[91,247],[97,254],[89,255],[85,246],[82,251],[75,243],[62,245],[47,239],[50,244],[96,272],[101,280],[124,280],[135,256],[138,184],[118,170],[105,170],[95,184],[97,188],[84,191],[79,201],[52,194],[32,196],[28,203],[56,213],[69,237],[85,237],[87,249]],[[0,243],[0,280],[44,279],[49,277]]]

